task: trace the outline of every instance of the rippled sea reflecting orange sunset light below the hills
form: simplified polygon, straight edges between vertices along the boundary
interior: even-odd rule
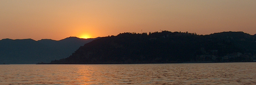
[[[0,85],[256,85],[256,62],[0,65]]]

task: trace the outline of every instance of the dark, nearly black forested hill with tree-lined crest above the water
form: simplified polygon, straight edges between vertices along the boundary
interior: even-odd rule
[[[255,54],[256,37],[244,32],[197,35],[162,31],[102,37],[49,64],[251,62]]]

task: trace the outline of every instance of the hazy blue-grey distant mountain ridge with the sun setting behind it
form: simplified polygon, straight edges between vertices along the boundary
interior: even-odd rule
[[[62,59],[71,55],[80,46],[95,39],[80,39],[67,37],[63,40],[0,40],[0,63],[35,64],[50,62],[52,59]]]

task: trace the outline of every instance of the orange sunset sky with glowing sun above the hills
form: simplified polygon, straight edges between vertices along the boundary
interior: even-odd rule
[[[0,40],[124,32],[256,34],[256,0],[0,0]]]

